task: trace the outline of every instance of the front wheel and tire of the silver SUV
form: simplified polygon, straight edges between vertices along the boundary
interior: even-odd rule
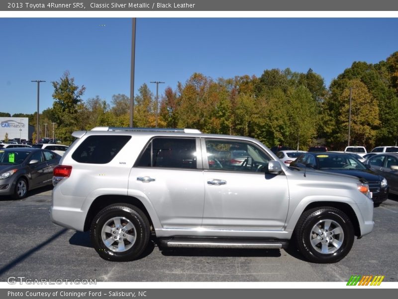
[[[301,214],[294,237],[298,250],[310,262],[335,263],[351,250],[354,236],[353,224],[345,213],[320,207]]]

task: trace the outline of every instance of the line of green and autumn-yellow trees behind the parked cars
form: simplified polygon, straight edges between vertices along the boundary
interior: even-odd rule
[[[40,123],[57,123],[56,136],[71,143],[71,133],[97,126],[128,127],[129,97],[100,96],[82,100],[79,87],[66,71],[52,82],[54,103],[40,115]],[[194,73],[175,89],[167,87],[156,103],[147,84],[134,98],[134,127],[195,128],[203,133],[243,135],[268,147],[294,149],[325,145],[340,150],[348,143],[372,149],[395,145],[398,139],[398,52],[376,64],[354,62],[326,88],[321,75],[265,70],[260,77],[214,79]],[[0,116],[10,116],[0,113]],[[36,114],[29,117],[35,125]],[[41,136],[43,127],[41,126]]]

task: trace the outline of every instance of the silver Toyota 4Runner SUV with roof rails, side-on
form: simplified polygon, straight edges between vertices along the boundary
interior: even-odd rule
[[[153,234],[160,247],[286,248],[295,240],[309,261],[333,263],[373,229],[367,184],[290,169],[255,139],[103,127],[73,136],[54,169],[51,219],[90,230],[106,260],[139,258]]]

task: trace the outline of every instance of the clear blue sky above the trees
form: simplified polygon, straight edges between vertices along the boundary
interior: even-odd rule
[[[213,79],[266,69],[312,68],[326,86],[353,61],[377,63],[398,51],[398,18],[137,18],[135,90],[173,89],[199,72]],[[0,18],[0,112],[52,106],[69,70],[83,100],[130,94],[131,18]]]

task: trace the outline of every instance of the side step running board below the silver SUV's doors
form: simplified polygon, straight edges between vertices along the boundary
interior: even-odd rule
[[[255,248],[281,249],[287,248],[287,240],[271,239],[226,239],[226,238],[160,238],[160,245],[164,247],[195,247],[195,248]]]

